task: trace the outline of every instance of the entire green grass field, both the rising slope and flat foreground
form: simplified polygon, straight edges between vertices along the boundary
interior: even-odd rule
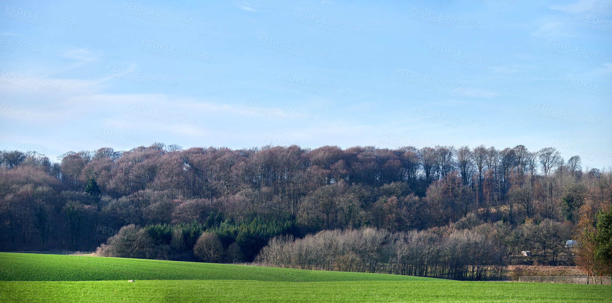
[[[136,282],[127,282],[134,279]],[[460,282],[71,255],[0,253],[1,302],[610,302],[612,286]]]

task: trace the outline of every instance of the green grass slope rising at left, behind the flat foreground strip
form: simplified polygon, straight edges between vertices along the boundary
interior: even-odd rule
[[[258,280],[286,282],[436,280],[425,277],[72,255],[0,253],[0,280]]]

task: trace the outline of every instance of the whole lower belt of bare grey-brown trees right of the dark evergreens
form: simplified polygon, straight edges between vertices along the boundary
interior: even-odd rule
[[[536,264],[571,265],[575,250],[563,241],[569,237],[568,224],[550,219],[513,228],[501,221],[483,223],[470,214],[449,226],[422,231],[361,228],[323,230],[301,239],[280,236],[255,261],[301,269],[500,280],[505,278],[505,265],[525,260],[512,255],[516,249],[531,250]]]

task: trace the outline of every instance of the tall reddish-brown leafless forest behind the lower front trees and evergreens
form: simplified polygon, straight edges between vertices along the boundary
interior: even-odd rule
[[[571,238],[581,214],[594,219],[606,209],[612,192],[609,170],[583,170],[579,156],[565,161],[555,148],[530,152],[523,145],[182,150],[153,144],[127,152],[67,152],[58,161],[0,152],[0,226],[6,230],[0,249],[94,250],[133,225],[134,234],[145,230],[142,236],[170,247],[149,257],[187,258],[197,233],[214,233],[227,261],[239,237],[212,232],[225,224],[280,222],[291,227],[267,232],[268,238],[304,238],[365,227],[394,235],[451,226],[458,232],[465,228],[457,224],[472,220],[509,228],[512,236],[498,240],[504,263],[524,262],[517,256],[531,250],[530,261],[569,264],[554,247]],[[151,233],[152,226],[165,226],[156,227],[163,235]],[[197,227],[193,236],[187,226]],[[547,226],[556,228],[554,243],[545,242]],[[187,251],[173,248],[175,229]],[[250,261],[266,243],[237,243],[232,251],[238,246]]]

